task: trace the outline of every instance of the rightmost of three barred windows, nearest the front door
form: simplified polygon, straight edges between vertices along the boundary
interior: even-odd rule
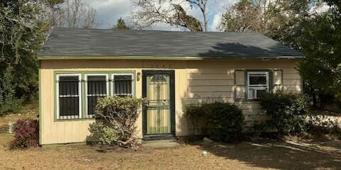
[[[133,96],[133,74],[112,74],[112,94]]]

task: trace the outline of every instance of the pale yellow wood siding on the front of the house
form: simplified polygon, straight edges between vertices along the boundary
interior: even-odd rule
[[[206,101],[234,102],[234,93],[244,95],[242,86],[236,88],[236,69],[280,69],[283,71],[283,89],[301,91],[301,78],[295,69],[296,60],[43,60],[40,69],[41,86],[41,144],[85,142],[89,124],[94,120],[55,120],[54,72],[134,71],[143,69],[175,70],[175,135],[188,135],[188,123],[184,118],[185,106]],[[238,81],[243,81],[239,79]],[[134,81],[136,97],[142,96],[142,80]],[[261,106],[256,102],[236,102],[242,108],[247,126],[264,120]],[[142,116],[137,122],[137,137],[142,137]]]

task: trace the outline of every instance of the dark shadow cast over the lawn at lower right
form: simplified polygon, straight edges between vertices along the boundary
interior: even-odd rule
[[[341,142],[242,142],[233,145],[200,145],[200,149],[255,168],[341,169]]]

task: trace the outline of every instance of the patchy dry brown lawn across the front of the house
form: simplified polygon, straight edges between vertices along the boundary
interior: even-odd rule
[[[340,141],[192,144],[134,152],[90,145],[10,150],[11,140],[12,135],[0,135],[0,169],[341,169]]]

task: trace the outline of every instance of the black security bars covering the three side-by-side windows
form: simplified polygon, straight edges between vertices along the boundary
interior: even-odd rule
[[[60,76],[57,81],[58,119],[94,118],[97,99],[108,96],[109,84],[112,84],[112,95],[133,96],[132,82],[134,79],[132,78],[131,75],[114,75],[114,79],[107,79],[106,76],[87,75],[87,80],[79,80],[78,76]],[[82,83],[85,83],[85,89],[82,89]],[[80,115],[82,97],[79,94],[79,87],[81,90],[86,90],[86,113],[83,115]]]

